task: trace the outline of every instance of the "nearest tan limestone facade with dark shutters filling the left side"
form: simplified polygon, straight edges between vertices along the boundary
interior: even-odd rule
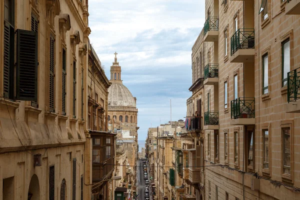
[[[87,18],[82,0],[0,1],[0,199],[88,199]]]

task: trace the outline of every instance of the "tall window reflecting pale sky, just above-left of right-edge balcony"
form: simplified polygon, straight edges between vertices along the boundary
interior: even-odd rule
[[[290,70],[290,41],[289,38],[282,42],[282,86],[287,83],[287,72]]]

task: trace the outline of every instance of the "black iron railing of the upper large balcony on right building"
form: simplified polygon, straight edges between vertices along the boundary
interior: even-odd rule
[[[238,49],[254,48],[254,29],[240,28],[231,37],[231,55]]]

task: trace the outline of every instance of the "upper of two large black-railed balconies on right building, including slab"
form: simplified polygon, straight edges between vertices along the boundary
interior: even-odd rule
[[[254,29],[240,28],[230,40],[230,62],[254,62]]]

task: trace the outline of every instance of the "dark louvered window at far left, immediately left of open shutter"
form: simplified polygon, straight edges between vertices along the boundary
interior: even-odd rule
[[[13,98],[14,0],[4,1],[3,96]]]

